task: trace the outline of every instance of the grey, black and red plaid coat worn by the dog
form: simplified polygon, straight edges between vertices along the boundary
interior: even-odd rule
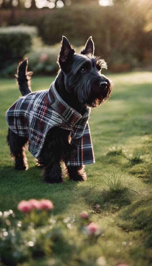
[[[19,136],[29,137],[29,151],[39,157],[48,130],[54,126],[71,131],[71,143],[76,152],[67,165],[95,162],[88,119],[90,108],[81,116],[67,105],[53,82],[49,90],[31,92],[20,97],[6,112],[9,128]]]

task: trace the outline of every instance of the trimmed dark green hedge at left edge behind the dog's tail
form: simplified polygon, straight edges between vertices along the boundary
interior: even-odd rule
[[[0,74],[9,74],[17,63],[29,52],[36,27],[10,26],[0,29]]]

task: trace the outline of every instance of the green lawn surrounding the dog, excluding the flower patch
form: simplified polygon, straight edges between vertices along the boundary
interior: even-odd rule
[[[89,120],[96,163],[86,166],[88,181],[74,182],[65,177],[63,184],[52,185],[43,182],[42,170],[28,151],[29,170],[14,170],[5,140],[5,111],[16,101],[19,90],[13,79],[0,79],[0,210],[12,209],[21,219],[17,210],[20,200],[46,198],[54,203],[54,217],[75,217],[71,230],[64,229],[71,243],[69,249],[63,246],[64,252],[58,252],[57,258],[34,258],[34,262],[19,266],[56,265],[56,261],[61,266],[152,265],[152,76],[150,72],[108,76],[115,84],[111,98],[92,109]],[[33,91],[48,89],[53,80],[33,77]],[[131,155],[125,156],[126,152]],[[75,233],[74,226],[78,226],[83,210],[91,210],[104,235],[77,252],[83,236]]]

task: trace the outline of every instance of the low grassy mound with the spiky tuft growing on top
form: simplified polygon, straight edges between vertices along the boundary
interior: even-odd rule
[[[114,171],[112,174],[104,173],[104,176],[107,178],[107,182],[104,181],[104,183],[109,189],[103,185],[96,185],[92,189],[88,187],[85,193],[82,193],[92,211],[96,213],[115,212],[136,199],[138,192],[126,186],[127,181],[124,181],[121,176],[116,175]],[[129,182],[130,185],[134,187],[133,183]]]

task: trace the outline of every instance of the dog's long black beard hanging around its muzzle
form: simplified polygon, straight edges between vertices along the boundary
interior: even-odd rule
[[[77,91],[79,102],[88,107],[96,108],[108,100],[112,91],[112,81],[106,80],[106,82],[107,87],[105,89],[99,87],[98,82],[95,82],[92,87],[90,87],[90,84],[84,84],[84,86]]]

